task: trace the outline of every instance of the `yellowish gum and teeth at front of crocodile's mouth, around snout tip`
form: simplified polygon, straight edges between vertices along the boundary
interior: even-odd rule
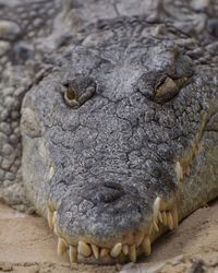
[[[114,264],[128,261],[136,262],[140,256],[149,256],[152,242],[167,230],[178,227],[178,210],[174,198],[167,202],[157,197],[153,205],[153,214],[146,226],[123,233],[118,241],[104,241],[82,236],[71,238],[58,225],[58,211],[48,206],[47,219],[49,227],[58,236],[57,252],[68,254],[70,263]]]

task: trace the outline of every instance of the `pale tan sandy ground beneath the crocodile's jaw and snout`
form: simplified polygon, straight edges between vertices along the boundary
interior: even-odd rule
[[[56,253],[57,238],[45,219],[0,204],[0,272],[218,273],[218,200],[158,239],[149,258],[124,266],[73,264]]]

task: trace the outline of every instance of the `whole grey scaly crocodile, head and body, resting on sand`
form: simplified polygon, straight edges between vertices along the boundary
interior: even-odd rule
[[[0,1],[0,199],[111,264],[218,197],[216,1]]]

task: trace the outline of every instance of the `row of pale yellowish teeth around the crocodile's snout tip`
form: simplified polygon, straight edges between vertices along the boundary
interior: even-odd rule
[[[172,211],[160,211],[160,199],[157,198],[154,202],[154,218],[153,228],[159,232],[159,223],[162,226],[167,226],[170,230],[178,226],[178,213],[177,210]],[[50,212],[48,210],[48,224],[51,229],[56,233],[57,229],[57,211]],[[57,233],[56,233],[57,234]],[[145,256],[149,256],[152,252],[150,238],[148,235],[142,237],[138,244],[122,245],[121,242],[116,244],[111,249],[100,248],[94,244],[87,244],[80,240],[77,246],[68,246],[63,238],[58,239],[57,252],[62,256],[69,249],[69,259],[71,263],[77,262],[78,254],[85,258],[93,256],[96,260],[99,258],[104,259],[107,256],[116,259],[120,254],[129,257],[131,262],[136,262],[137,248],[141,248]]]

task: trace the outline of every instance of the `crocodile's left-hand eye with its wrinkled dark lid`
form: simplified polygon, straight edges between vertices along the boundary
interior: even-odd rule
[[[77,76],[63,84],[65,103],[72,108],[78,108],[96,92],[96,83],[89,78]]]

